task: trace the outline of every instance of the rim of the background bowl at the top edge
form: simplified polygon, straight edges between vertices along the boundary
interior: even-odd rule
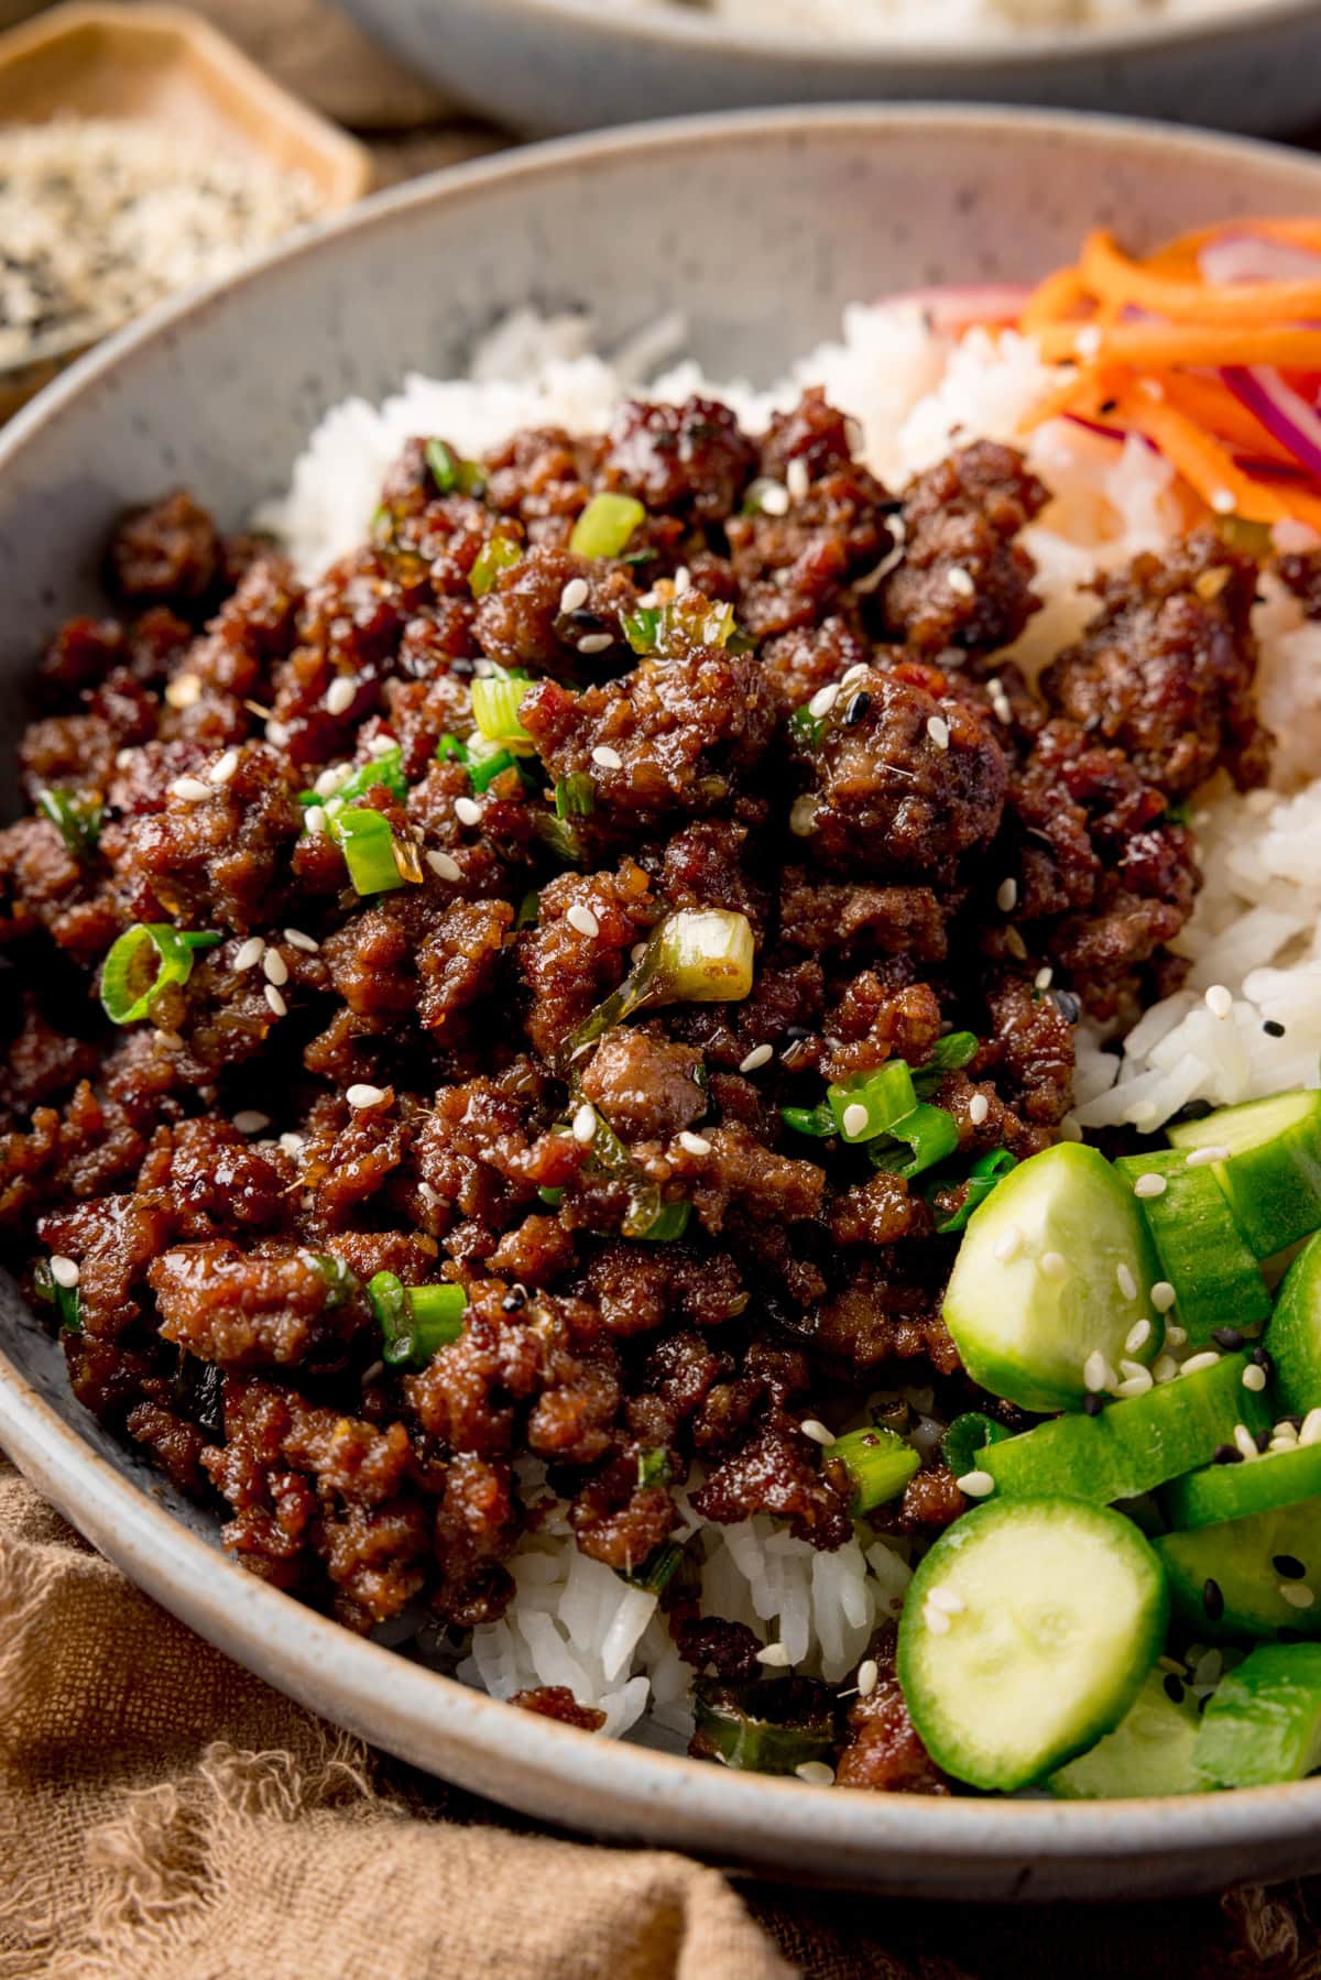
[[[1198,48],[1206,42],[1250,40],[1264,28],[1307,22],[1315,16],[1315,0],[1238,0],[1234,12],[1178,18],[1135,20],[1127,28],[1032,30],[1012,40],[966,40],[957,48],[949,42],[897,40],[883,42],[840,36],[812,42],[806,34],[774,30],[761,34],[723,16],[705,14],[699,6],[646,6],[610,10],[602,0],[487,0],[497,12],[523,16],[525,24],[549,24],[596,34],[618,48],[661,48],[677,55],[701,59],[762,61],[772,67],[802,69],[810,61],[822,69],[885,67],[899,77],[909,71],[929,73],[947,67],[951,73],[976,61],[978,69],[1002,75],[1006,81],[1022,69],[1058,61],[1105,61],[1121,55],[1153,55],[1169,50]],[[436,0],[444,14],[448,0]]]

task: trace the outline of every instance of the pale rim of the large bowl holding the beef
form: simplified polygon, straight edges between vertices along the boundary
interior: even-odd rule
[[[1321,156],[1291,152],[1260,139],[1075,111],[939,103],[755,109],[555,139],[475,158],[376,194],[291,236],[226,281],[160,305],[79,358],[8,422],[0,434],[0,477],[20,471],[28,444],[121,364],[151,358],[156,346],[168,348],[190,319],[224,309],[234,293],[259,287],[271,271],[333,257],[341,240],[358,230],[388,226],[412,210],[465,200],[487,188],[505,190],[529,176],[572,174],[588,164],[608,166],[614,158],[663,156],[689,147],[741,147],[749,141],[794,141],[816,131],[856,131],[860,139],[875,139],[887,131],[931,125],[986,139],[1016,137],[1030,127],[1056,141],[1113,145],[1153,160],[1161,152],[1188,150],[1220,164],[1236,156],[1287,162],[1301,180],[1315,182],[1321,208]],[[864,1796],[737,1774],[630,1742],[610,1740],[602,1746],[594,1734],[533,1713],[521,1713],[515,1729],[503,1701],[356,1637],[257,1580],[170,1513],[156,1493],[109,1463],[77,1422],[55,1410],[4,1352],[0,1447],[139,1588],[238,1663],[259,1667],[259,1675],[309,1709],[343,1715],[366,1738],[404,1756],[410,1734],[416,1738],[416,1725],[426,1723],[475,1768],[507,1748],[517,1731],[521,1774],[537,1776],[557,1804],[566,1804],[576,1794],[588,1806],[610,1808],[614,1820],[628,1818],[634,1824],[632,1833],[646,1833],[648,1818],[660,1812],[661,1822],[669,1822],[669,1835],[681,1833],[689,1824],[723,1837],[727,1857],[739,1853],[753,1863],[784,1861],[794,1841],[814,1859],[830,1847],[840,1865],[836,1881],[844,1883],[865,1881],[867,1871],[881,1867],[895,1867],[899,1877],[907,1873],[921,1879],[923,1867],[941,1849],[966,1863],[1002,1861],[1006,1867],[1032,1857],[1054,1863],[1079,1857],[1165,1859],[1212,1847],[1220,1859],[1240,1847],[1260,1851],[1262,1845],[1305,1839],[1315,1839],[1321,1853],[1321,1778],[1169,1800]],[[337,1691],[331,1713],[313,1697],[317,1675],[327,1673],[333,1673]],[[479,1788],[479,1782],[469,1784]],[[681,1841],[671,1845],[683,1847]],[[1020,1873],[1020,1881],[1026,1875]]]

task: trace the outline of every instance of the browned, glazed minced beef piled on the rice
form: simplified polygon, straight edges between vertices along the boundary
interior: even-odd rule
[[[810,392],[761,442],[689,400],[624,406],[600,440],[519,434],[467,491],[440,493],[436,457],[404,449],[372,541],[307,590],[184,493],[131,515],[115,616],[44,661],[36,810],[0,834],[10,1255],[77,1265],[87,1408],[355,1630],[418,1600],[501,1614],[537,1517],[521,1453],[622,1572],[665,1544],[693,1459],[707,1519],[840,1546],[848,1477],[800,1426],[899,1370],[966,1398],[937,1218],[972,1156],[1054,1138],[1079,1006],[1176,980],[1198,875],[1172,800],[1266,756],[1254,570],[1208,535],[1105,578],[1042,697],[988,665],[1036,610],[1018,533],[1046,499],[1006,447],[897,501]],[[600,491],[648,511],[622,558],[568,546]],[[477,794],[483,661],[529,671],[541,760]],[[356,802],[406,883],[358,895],[299,794],[392,744],[406,794],[382,768]],[[557,786],[586,792],[568,818]],[[51,790],[73,812],[48,816]],[[747,917],[751,996],[574,1053],[677,909]],[[137,923],[218,940],[113,1030],[97,970]],[[935,1178],[784,1123],[951,1028],[978,1047],[929,1091],[959,1137]],[[566,1133],[584,1105],[616,1160]],[[667,1241],[624,1236],[638,1188],[687,1206]],[[382,1360],[378,1271],[463,1289],[426,1366]],[[931,1534],[959,1507],[931,1461],[875,1525]],[[683,1576],[665,1604],[695,1665],[759,1671]],[[941,1792],[877,1657],[840,1780]],[[555,1689],[519,1703],[600,1721]]]

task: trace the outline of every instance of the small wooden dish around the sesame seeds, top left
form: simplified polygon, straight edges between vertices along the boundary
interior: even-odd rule
[[[303,172],[321,210],[370,188],[362,145],[299,103],[224,34],[184,8],[75,0],[0,34],[0,125],[51,117],[143,119],[240,158]],[[0,372],[0,420],[77,350]]]

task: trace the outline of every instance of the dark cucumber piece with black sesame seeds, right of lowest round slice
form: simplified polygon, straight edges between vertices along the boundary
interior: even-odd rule
[[[1224,1527],[1167,1533],[1153,1544],[1174,1612],[1202,1641],[1271,1639],[1281,1630],[1321,1637],[1321,1519],[1313,1501]],[[1301,1566],[1303,1576],[1281,1576],[1279,1560]],[[1293,1600],[1281,1588],[1293,1590]]]

